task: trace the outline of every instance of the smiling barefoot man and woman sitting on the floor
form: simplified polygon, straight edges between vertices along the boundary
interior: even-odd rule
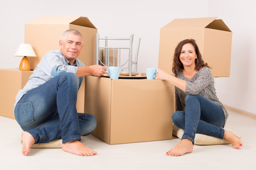
[[[90,135],[97,123],[93,115],[77,112],[78,89],[83,77],[100,77],[107,69],[100,65],[85,66],[77,59],[83,46],[78,30],[66,30],[59,45],[60,50],[46,53],[16,96],[14,115],[23,130],[22,153],[28,155],[33,144],[62,139],[63,151],[93,156],[97,152],[80,140],[81,136]],[[175,86],[176,112],[172,119],[174,125],[184,130],[181,142],[166,155],[192,152],[196,133],[224,138],[235,149],[242,147],[238,137],[223,129],[228,112],[216,96],[213,76],[195,40],[178,43],[173,72],[174,76],[161,69],[156,71],[156,79]]]

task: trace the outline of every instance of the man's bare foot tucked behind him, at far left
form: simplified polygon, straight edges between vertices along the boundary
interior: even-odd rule
[[[22,132],[21,139],[23,142],[22,154],[27,156],[30,152],[32,145],[35,143],[33,136],[29,132]]]

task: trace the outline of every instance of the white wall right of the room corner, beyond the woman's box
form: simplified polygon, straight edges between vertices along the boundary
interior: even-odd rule
[[[256,11],[253,0],[210,0],[209,16],[233,31],[230,77],[215,79],[220,100],[256,114]],[[220,61],[221,62],[221,61]]]

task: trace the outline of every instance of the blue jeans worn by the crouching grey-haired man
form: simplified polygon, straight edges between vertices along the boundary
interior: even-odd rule
[[[45,84],[28,91],[16,104],[14,115],[22,130],[36,143],[62,138],[63,143],[81,140],[96,128],[93,115],[77,113],[80,79],[63,72]]]

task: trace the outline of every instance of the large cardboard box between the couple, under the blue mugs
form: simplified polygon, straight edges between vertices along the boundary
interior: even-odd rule
[[[87,76],[85,82],[85,111],[97,119],[95,137],[110,145],[172,138],[171,84],[93,76]]]

